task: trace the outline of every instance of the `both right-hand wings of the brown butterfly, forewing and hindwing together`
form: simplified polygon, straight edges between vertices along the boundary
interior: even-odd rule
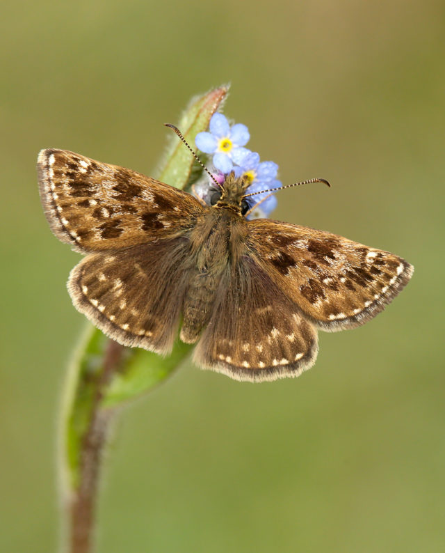
[[[412,276],[404,259],[338,235],[247,224],[243,255],[227,267],[195,349],[197,364],[236,380],[299,375],[316,360],[317,327],[362,325]]]

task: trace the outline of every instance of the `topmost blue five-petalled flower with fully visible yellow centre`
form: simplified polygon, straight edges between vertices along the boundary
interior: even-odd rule
[[[202,152],[213,154],[213,165],[222,173],[230,173],[235,165],[241,164],[250,154],[243,148],[250,139],[248,127],[237,123],[230,127],[223,114],[213,114],[209,124],[210,132],[198,132],[195,144]]]

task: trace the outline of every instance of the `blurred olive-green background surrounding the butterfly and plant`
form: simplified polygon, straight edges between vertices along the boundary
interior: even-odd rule
[[[321,334],[297,380],[186,366],[129,406],[107,454],[99,553],[441,552],[444,3],[3,1],[0,550],[58,545],[56,419],[84,318],[35,159],[57,147],[151,173],[196,93],[280,165],[275,218],[394,251],[394,304]]]

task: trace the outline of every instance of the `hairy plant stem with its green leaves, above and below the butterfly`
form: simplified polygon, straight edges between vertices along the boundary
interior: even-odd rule
[[[179,128],[193,143],[209,127],[227,86],[197,96],[181,116]],[[184,189],[198,174],[193,157],[172,133],[158,178]],[[102,451],[120,405],[153,389],[190,355],[192,345],[175,343],[168,357],[139,348],[125,348],[90,328],[72,361],[67,378],[60,435],[60,476],[65,495],[67,553],[91,553]]]

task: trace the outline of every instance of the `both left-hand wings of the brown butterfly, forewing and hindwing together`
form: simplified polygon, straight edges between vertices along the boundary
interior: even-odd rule
[[[54,234],[89,253],[70,274],[76,308],[116,341],[169,352],[186,286],[186,234],[202,206],[136,171],[42,150],[40,196]]]

